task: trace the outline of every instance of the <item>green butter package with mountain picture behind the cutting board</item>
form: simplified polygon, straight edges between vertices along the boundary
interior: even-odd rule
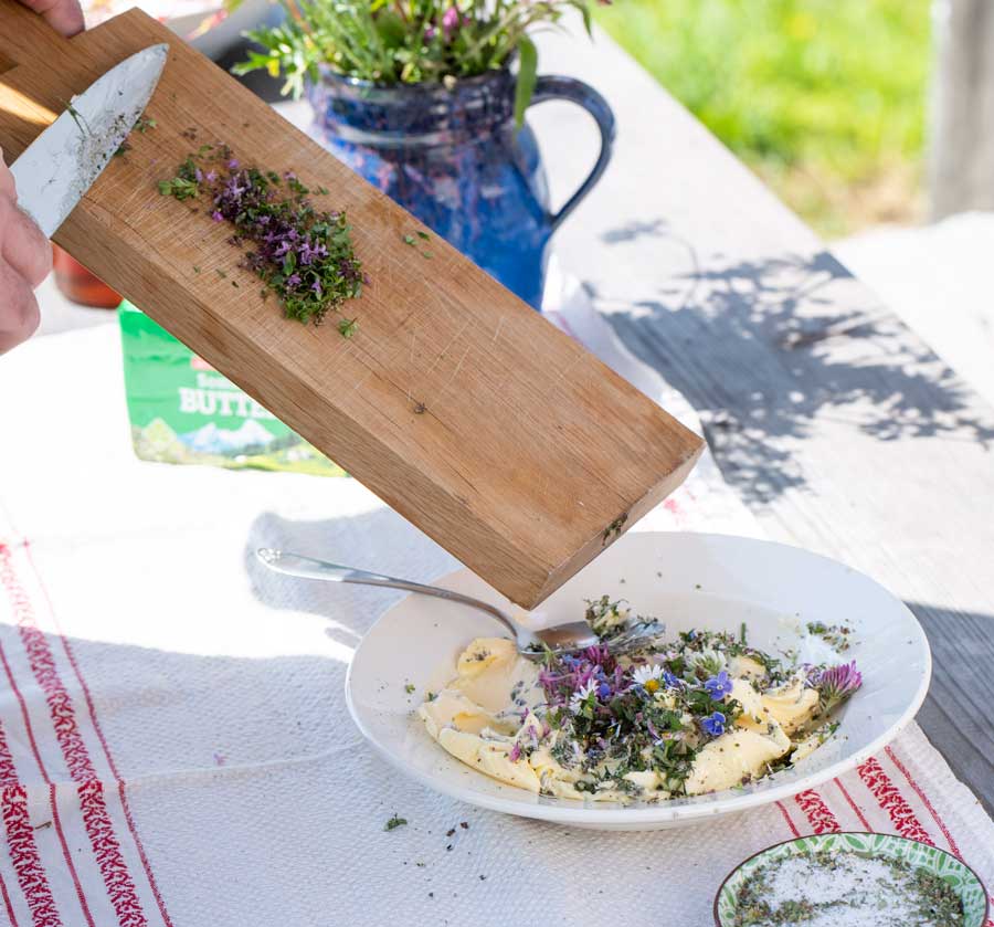
[[[141,460],[346,475],[140,309],[124,302],[118,318]]]

